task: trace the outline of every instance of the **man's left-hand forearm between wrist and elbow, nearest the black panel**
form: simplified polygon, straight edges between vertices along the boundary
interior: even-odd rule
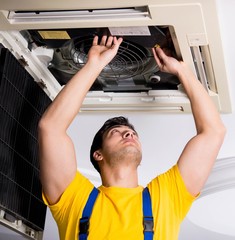
[[[56,128],[57,131],[66,130],[78,114],[87,92],[101,70],[102,67],[88,62],[57,95],[41,122],[45,122],[48,128]]]

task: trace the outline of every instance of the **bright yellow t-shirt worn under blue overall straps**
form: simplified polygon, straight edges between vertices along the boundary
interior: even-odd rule
[[[77,172],[58,203],[50,205],[61,240],[77,240],[79,219],[92,183]],[[154,217],[154,240],[176,240],[180,223],[195,197],[187,191],[177,165],[148,184]],[[143,240],[143,187],[99,187],[88,240]],[[45,203],[48,205],[45,197]]]

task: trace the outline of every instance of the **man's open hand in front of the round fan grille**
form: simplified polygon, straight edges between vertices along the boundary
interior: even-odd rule
[[[95,36],[88,53],[88,62],[99,64],[98,66],[101,64],[103,68],[115,57],[123,39],[103,36],[100,43],[98,40],[98,36]]]

